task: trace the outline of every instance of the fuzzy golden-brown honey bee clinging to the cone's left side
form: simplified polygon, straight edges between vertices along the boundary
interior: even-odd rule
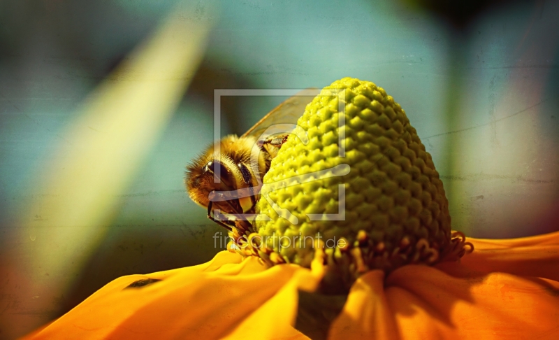
[[[184,184],[190,198],[208,209],[208,218],[229,231],[249,230],[262,178],[296,129],[305,106],[319,93],[307,89],[279,104],[245,134],[225,136],[187,165]]]

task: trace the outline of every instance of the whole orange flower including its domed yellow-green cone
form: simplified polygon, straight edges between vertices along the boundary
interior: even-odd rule
[[[332,87],[348,90],[350,101],[348,176],[315,175],[312,182],[277,190],[275,197],[268,193],[303,219],[309,212],[331,213],[335,188],[349,184],[346,220],[303,220],[297,229],[286,226],[287,218],[275,218],[270,202],[260,199],[261,212],[273,219],[255,223],[255,230],[235,228],[231,251],[195,267],[117,278],[26,339],[559,337],[559,232],[508,240],[451,232],[442,182],[400,106],[372,83],[344,78]],[[333,173],[328,168],[340,160],[337,147],[330,150],[337,136],[328,133],[336,129],[337,104],[326,96],[307,106],[298,124],[310,124],[308,150],[290,137],[265,185],[274,176],[293,178],[293,168],[299,176]],[[351,132],[363,127],[358,117],[376,127]],[[328,132],[319,141],[312,127]],[[290,166],[292,161],[299,163]],[[309,194],[298,195],[305,184]],[[301,196],[312,199],[305,203]],[[374,214],[363,204],[374,207]],[[326,247],[321,241],[280,247],[259,239],[252,246],[256,236],[298,232],[322,232],[343,244],[335,250],[327,241]],[[470,251],[463,256],[466,245]]]

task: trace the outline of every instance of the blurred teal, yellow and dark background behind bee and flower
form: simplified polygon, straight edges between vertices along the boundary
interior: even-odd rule
[[[559,230],[558,1],[179,2],[0,2],[0,339],[220,250],[182,183],[215,89],[371,80],[433,155],[453,229]],[[284,99],[224,98],[222,134]]]

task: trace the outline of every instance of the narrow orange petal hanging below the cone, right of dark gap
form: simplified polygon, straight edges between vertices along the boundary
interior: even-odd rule
[[[380,270],[357,279],[342,313],[330,327],[329,339],[399,339],[383,280]]]

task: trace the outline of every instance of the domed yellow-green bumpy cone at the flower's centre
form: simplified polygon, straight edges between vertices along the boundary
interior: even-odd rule
[[[256,206],[271,218],[255,222],[261,238],[268,237],[268,250],[309,267],[320,237],[328,264],[349,266],[352,273],[439,260],[451,243],[442,181],[404,110],[382,87],[337,80],[313,99],[298,125],[308,143],[289,136],[263,178]],[[333,176],[343,164],[349,173]],[[340,213],[344,219],[336,220]]]

